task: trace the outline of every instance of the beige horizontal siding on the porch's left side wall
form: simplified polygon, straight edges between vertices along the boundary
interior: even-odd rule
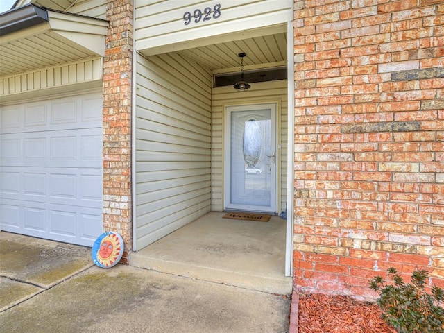
[[[210,212],[212,74],[137,56],[136,249]]]

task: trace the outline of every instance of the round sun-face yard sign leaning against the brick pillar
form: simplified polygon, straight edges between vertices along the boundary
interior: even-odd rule
[[[117,264],[123,255],[123,239],[117,232],[103,232],[92,246],[92,261],[101,268]]]

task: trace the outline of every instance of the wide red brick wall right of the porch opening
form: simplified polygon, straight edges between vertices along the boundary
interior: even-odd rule
[[[444,287],[442,0],[295,1],[295,288]]]

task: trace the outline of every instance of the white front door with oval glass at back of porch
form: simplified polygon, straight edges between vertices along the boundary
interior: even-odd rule
[[[275,213],[276,104],[225,108],[225,210]]]

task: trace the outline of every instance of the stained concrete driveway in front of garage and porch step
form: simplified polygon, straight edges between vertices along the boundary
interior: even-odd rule
[[[0,232],[0,332],[278,332],[284,296],[131,266],[90,248]]]

